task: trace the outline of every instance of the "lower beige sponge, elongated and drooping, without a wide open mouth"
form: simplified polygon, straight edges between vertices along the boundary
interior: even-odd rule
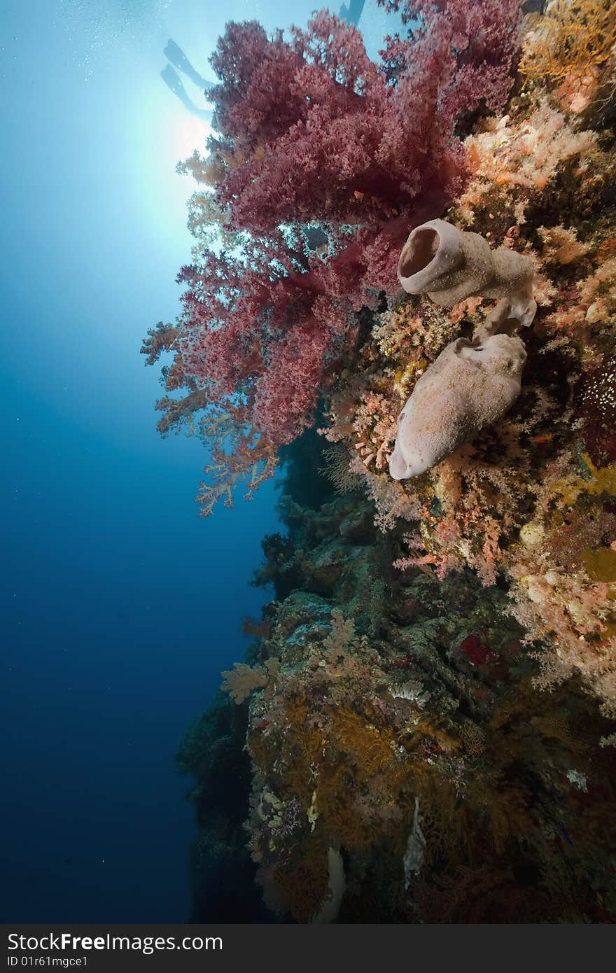
[[[525,360],[524,342],[510,335],[448,344],[398,416],[392,478],[425,473],[506,413],[520,395]]]

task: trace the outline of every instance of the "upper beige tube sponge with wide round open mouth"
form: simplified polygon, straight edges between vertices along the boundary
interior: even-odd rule
[[[462,233],[446,220],[416,227],[398,261],[398,279],[409,294],[427,294],[453,307],[472,294],[501,298],[487,318],[486,333],[527,327],[535,315],[533,268],[514,250],[492,250],[480,234]]]

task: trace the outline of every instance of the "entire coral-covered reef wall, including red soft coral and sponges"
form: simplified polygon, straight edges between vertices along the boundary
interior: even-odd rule
[[[194,161],[229,247],[145,346],[208,510],[290,444],[272,600],[181,751],[193,916],[237,869],[282,920],[614,921],[611,19],[387,6],[380,67],[329,15],[230,25]]]

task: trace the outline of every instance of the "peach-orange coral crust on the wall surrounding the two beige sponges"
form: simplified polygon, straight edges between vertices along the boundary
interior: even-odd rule
[[[614,699],[614,583],[595,564],[607,564],[614,533],[604,531],[595,547],[585,537],[588,523],[607,523],[613,502],[613,155],[607,136],[601,147],[594,131],[576,129],[561,113],[527,99],[512,104],[502,125],[488,122],[466,144],[476,174],[450,220],[461,227],[472,220],[496,247],[523,252],[535,271],[539,308],[526,331],[525,384],[507,414],[417,481],[387,484],[374,462],[362,470],[350,459],[349,466],[363,476],[378,523],[389,531],[409,524],[410,551],[397,559],[399,566],[432,565],[443,577],[467,564],[489,584],[500,572],[511,585],[513,610],[528,625],[528,644],[534,639],[542,646],[550,679],[586,673],[608,704]],[[352,430],[362,403],[377,393],[381,414],[406,417],[404,403],[413,402],[416,388],[420,393],[443,348],[456,338],[472,342],[482,312],[483,302],[472,297],[449,310],[430,307],[421,296],[390,301],[364,347],[363,376],[344,378],[331,397],[328,438]],[[382,448],[391,456],[390,433],[373,429],[372,454]],[[352,449],[352,431],[342,441]],[[576,488],[566,488],[569,483]],[[569,550],[588,549],[574,571],[570,555],[564,561],[557,555],[567,523]],[[558,584],[539,583],[546,576],[558,577]],[[554,646],[561,659],[556,667]],[[550,679],[539,683],[551,685]]]

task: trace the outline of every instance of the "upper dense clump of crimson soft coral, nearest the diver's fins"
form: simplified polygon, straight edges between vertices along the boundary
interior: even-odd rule
[[[453,125],[462,107],[472,110],[483,97],[498,107],[504,96],[485,80],[481,94],[468,95],[469,68],[486,61],[475,49],[466,64],[456,54],[461,33],[452,17],[466,5],[419,6],[421,26],[396,45],[400,63],[389,85],[359,32],[324,11],[308,31],[293,28],[289,43],[280,32],[269,40],[255,23],[230,25],[212,59],[223,84],[212,92],[221,137],[210,149],[224,171],[216,194],[229,206],[231,225],[259,233],[297,220],[358,225],[364,234],[355,234],[357,260],[366,245],[391,251],[400,238],[392,218],[404,234],[417,198],[430,188],[451,191],[461,162]],[[488,6],[475,5],[476,22],[466,30],[483,27],[490,42],[495,8],[488,13]],[[498,13],[510,46],[518,7],[509,3]],[[385,63],[391,54],[390,47]],[[511,57],[503,63],[501,54],[502,45],[490,51],[502,88]],[[391,232],[397,239],[387,239]],[[362,261],[369,278],[375,255]]]

